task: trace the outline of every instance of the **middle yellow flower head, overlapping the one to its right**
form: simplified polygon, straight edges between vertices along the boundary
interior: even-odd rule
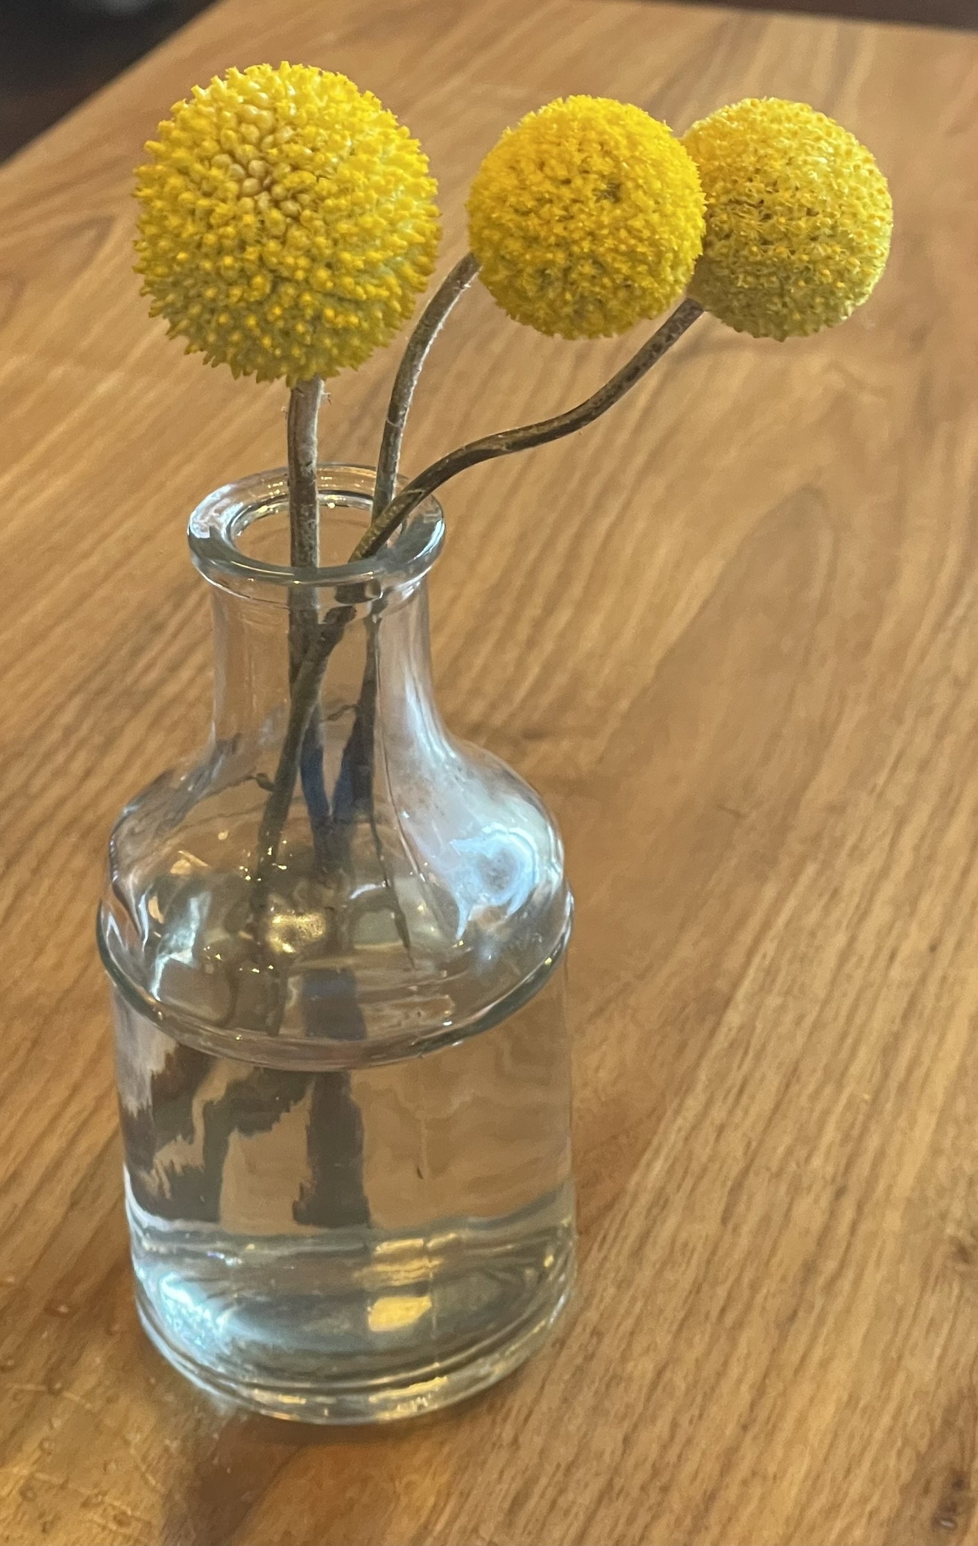
[[[573,96],[507,130],[468,196],[481,278],[564,339],[624,332],[684,291],[703,241],[697,169],[638,107]]]

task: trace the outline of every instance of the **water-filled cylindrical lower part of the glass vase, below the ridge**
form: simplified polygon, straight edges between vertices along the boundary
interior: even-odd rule
[[[116,989],[138,1302],[167,1356],[334,1422],[522,1362],[573,1271],[562,977],[453,1045],[314,1071],[190,1047]]]

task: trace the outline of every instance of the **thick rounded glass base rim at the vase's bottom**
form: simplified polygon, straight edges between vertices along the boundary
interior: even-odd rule
[[[456,1350],[443,1362],[419,1368],[388,1368],[366,1377],[304,1379],[289,1384],[235,1379],[209,1368],[175,1343],[136,1280],[136,1311],[150,1342],[181,1374],[207,1394],[250,1411],[289,1422],[349,1425],[417,1418],[476,1396],[511,1374],[552,1334],[573,1292],[573,1249],[548,1280],[545,1299],[519,1322],[496,1328],[482,1342]]]

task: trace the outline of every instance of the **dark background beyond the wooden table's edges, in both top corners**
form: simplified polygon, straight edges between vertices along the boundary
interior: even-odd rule
[[[0,161],[210,3],[0,0]],[[978,0],[752,0],[749,9],[978,29]]]

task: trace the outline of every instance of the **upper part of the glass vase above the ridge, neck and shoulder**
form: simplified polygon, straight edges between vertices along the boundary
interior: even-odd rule
[[[329,492],[363,519],[357,470],[338,473],[326,470],[352,487]],[[273,481],[221,490],[218,515],[195,516],[213,730],[121,813],[100,949],[133,1008],[190,1045],[283,1067],[391,1061],[487,1028],[545,980],[570,928],[564,855],[539,796],[442,724],[426,597],[437,532],[406,530],[366,578],[320,570],[289,586],[264,553],[258,578],[247,557],[222,566],[221,532],[258,527],[267,553],[281,495]],[[297,628],[309,645],[334,614],[269,838]]]

